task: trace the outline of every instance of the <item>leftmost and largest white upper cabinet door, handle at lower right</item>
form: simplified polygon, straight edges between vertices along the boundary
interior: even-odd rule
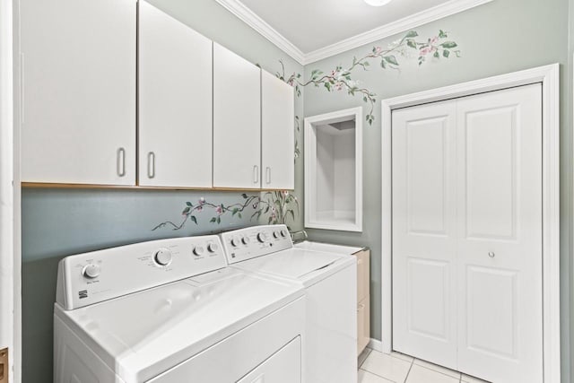
[[[135,0],[22,0],[22,181],[135,184]]]

